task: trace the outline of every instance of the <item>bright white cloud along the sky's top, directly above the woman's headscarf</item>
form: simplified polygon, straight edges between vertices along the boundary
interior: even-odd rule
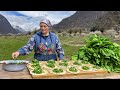
[[[52,22],[52,24],[57,24],[63,18],[71,16],[76,11],[17,11],[17,12],[30,17],[44,16],[48,18]]]

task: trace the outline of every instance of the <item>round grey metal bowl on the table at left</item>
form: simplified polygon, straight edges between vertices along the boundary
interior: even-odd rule
[[[18,60],[21,62],[22,60]],[[2,63],[2,68],[5,71],[11,71],[11,72],[16,72],[16,71],[22,71],[26,68],[27,63],[21,63],[21,64],[15,64],[11,62],[17,62],[17,60],[11,60],[9,63],[7,62],[6,64]]]

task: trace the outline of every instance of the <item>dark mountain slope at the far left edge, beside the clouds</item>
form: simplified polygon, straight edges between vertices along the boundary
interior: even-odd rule
[[[0,34],[18,34],[21,33],[20,31],[15,30],[9,21],[0,14]]]

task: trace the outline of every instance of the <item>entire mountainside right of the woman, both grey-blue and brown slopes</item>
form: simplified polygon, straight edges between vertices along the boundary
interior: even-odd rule
[[[120,21],[120,11],[77,11],[53,26],[55,30],[67,29],[109,29]]]

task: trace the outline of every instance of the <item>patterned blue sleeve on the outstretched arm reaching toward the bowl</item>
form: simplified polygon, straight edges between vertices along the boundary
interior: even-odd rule
[[[33,36],[29,39],[29,41],[27,42],[27,44],[25,46],[23,46],[22,48],[20,48],[18,50],[20,55],[26,55],[26,54],[31,53],[31,51],[34,48],[34,45],[35,45],[35,39],[34,39],[34,36]]]

